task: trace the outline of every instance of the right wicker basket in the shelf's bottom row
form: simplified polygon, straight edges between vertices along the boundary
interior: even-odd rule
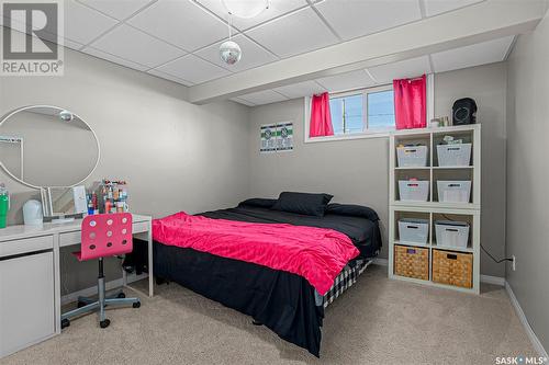
[[[433,282],[473,287],[473,254],[433,250]]]

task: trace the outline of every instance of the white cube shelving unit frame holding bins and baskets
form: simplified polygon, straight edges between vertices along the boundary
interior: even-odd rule
[[[472,144],[471,161],[466,167],[439,167],[437,145],[445,136],[463,139]],[[426,167],[399,167],[396,147],[399,145],[421,144],[427,146]],[[481,126],[480,124],[440,128],[423,128],[395,132],[390,137],[389,167],[389,276],[414,283],[440,286],[460,292],[480,293],[480,212],[481,212]],[[399,180],[428,180],[427,202],[403,202],[399,198]],[[467,203],[439,202],[437,181],[471,181],[470,201]],[[399,239],[400,218],[422,218],[429,221],[427,243],[402,242]],[[467,248],[444,247],[436,241],[436,220],[459,220],[470,225]],[[394,246],[417,247],[429,250],[428,280],[418,280],[394,273]],[[439,284],[433,281],[433,250],[446,250],[472,254],[472,287]]]

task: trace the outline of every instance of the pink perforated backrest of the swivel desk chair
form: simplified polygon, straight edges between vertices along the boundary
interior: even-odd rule
[[[81,241],[80,261],[132,252],[132,215],[113,213],[85,217]]]

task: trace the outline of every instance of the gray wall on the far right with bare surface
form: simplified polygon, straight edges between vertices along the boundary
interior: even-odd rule
[[[549,15],[518,38],[507,76],[507,281],[549,350]]]

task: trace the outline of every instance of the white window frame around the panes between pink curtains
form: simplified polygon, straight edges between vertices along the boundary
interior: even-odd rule
[[[376,93],[380,91],[389,91],[393,90],[393,84],[392,83],[386,83],[386,84],[380,84],[380,85],[374,85],[371,88],[360,88],[360,89],[352,89],[352,90],[347,90],[347,91],[338,91],[338,92],[330,92],[329,96],[338,98],[338,96],[344,96],[344,95],[356,95],[357,93],[362,92],[365,94],[365,103],[362,105],[363,112],[365,113],[365,119],[366,123],[368,123],[368,93]],[[435,116],[435,78],[433,73],[427,75],[427,90],[426,90],[426,103],[427,103],[427,126],[428,128],[429,123],[434,116]],[[310,128],[310,121],[311,121],[311,96],[305,96],[303,98],[303,103],[304,103],[304,118],[303,118],[303,141],[305,144],[314,144],[314,142],[323,142],[323,141],[336,141],[336,140],[351,140],[351,139],[365,139],[365,138],[389,138],[391,134],[393,134],[396,130],[396,127],[394,128],[386,128],[386,129],[366,129],[362,133],[350,133],[350,134],[343,134],[343,135],[334,135],[334,136],[325,136],[325,137],[309,137],[309,128]]]

